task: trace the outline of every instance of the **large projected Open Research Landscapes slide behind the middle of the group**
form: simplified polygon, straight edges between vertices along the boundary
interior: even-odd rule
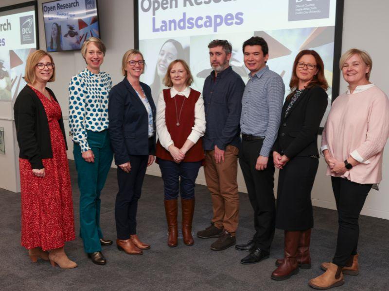
[[[332,86],[336,0],[138,0],[138,16],[139,49],[147,64],[141,80],[151,86],[154,99],[165,88],[163,77],[175,59],[188,62],[192,87],[202,91],[212,71],[207,46],[213,39],[231,43],[230,65],[247,82],[242,44],[252,36],[266,40],[267,65],[283,77],[285,97],[294,59],[302,49],[320,54]],[[330,87],[329,101],[331,92]]]

